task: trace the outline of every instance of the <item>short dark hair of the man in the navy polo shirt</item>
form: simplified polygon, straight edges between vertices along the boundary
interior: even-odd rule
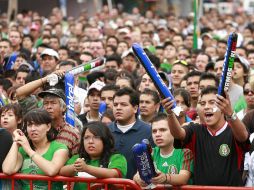
[[[118,91],[116,91],[113,99],[115,100],[116,96],[124,96],[127,95],[130,97],[130,104],[134,107],[134,106],[138,106],[139,105],[139,94],[137,91],[129,88],[129,87],[124,87],[122,89],[119,89]]]

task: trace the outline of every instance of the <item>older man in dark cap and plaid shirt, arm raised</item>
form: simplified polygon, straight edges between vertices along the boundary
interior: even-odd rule
[[[58,77],[64,76],[64,71],[56,71]],[[41,79],[29,82],[16,90],[16,97],[22,105],[22,112],[34,109],[38,104],[35,96],[31,95],[36,90],[42,88],[50,79],[50,75]],[[70,154],[76,154],[79,148],[79,133],[77,128],[68,125],[64,120],[66,111],[65,94],[63,90],[53,88],[42,91],[38,94],[43,99],[43,107],[49,112],[54,128],[58,131],[57,140],[68,146]]]

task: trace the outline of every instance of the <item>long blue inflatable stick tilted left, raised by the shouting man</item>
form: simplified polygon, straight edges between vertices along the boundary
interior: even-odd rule
[[[156,71],[154,65],[152,64],[152,62],[150,61],[150,59],[146,55],[143,48],[139,44],[134,43],[132,45],[132,49],[133,49],[133,52],[134,52],[135,56],[139,60],[139,62],[144,66],[147,74],[152,79],[155,87],[159,91],[162,98],[168,98],[169,97],[171,100],[174,100],[173,95],[171,94],[171,92],[169,91],[169,89],[167,88],[167,86],[165,85],[163,80],[161,79],[160,75]],[[179,107],[176,106],[176,102],[174,102],[172,110],[175,112],[176,115],[179,115],[179,113],[181,111],[181,109],[179,109]]]

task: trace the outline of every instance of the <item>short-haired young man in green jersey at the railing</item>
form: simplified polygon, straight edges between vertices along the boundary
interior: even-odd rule
[[[193,173],[193,155],[189,149],[175,149],[174,138],[170,133],[167,115],[159,113],[152,121],[153,161],[157,176],[153,184],[184,185],[190,182]],[[140,186],[146,186],[137,173],[134,178]]]

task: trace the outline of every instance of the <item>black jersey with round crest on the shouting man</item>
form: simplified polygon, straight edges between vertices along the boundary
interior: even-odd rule
[[[206,126],[190,123],[184,127],[184,141],[175,141],[176,148],[180,145],[194,154],[194,184],[243,186],[243,159],[249,141],[237,142],[230,126],[226,124],[224,127],[213,136]]]

